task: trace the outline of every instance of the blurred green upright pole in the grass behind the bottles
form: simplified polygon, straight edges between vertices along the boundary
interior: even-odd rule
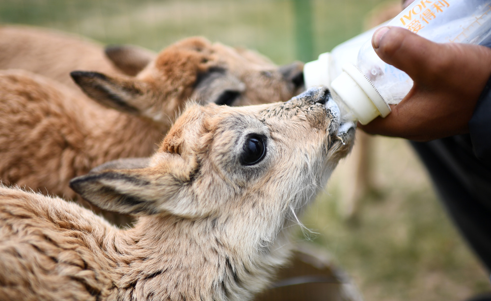
[[[312,34],[312,4],[310,0],[292,0],[295,16],[296,56],[303,62],[316,58]]]

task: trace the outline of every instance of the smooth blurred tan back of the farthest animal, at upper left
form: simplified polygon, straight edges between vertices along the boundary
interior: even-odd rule
[[[55,79],[83,97],[74,70],[121,73],[97,42],[34,26],[0,25],[0,69],[23,69]]]

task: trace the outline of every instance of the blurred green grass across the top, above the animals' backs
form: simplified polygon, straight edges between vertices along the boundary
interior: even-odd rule
[[[161,50],[179,39],[203,35],[246,46],[278,64],[314,59],[362,29],[365,13],[382,0],[2,0],[1,23],[40,25],[103,43],[132,43]],[[305,9],[310,6],[310,9]],[[307,15],[301,11],[309,11]],[[298,20],[298,15],[304,17]],[[312,53],[296,53],[296,39],[312,27]]]

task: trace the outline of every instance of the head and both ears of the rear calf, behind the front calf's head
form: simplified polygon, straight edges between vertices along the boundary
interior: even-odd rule
[[[117,110],[169,124],[188,99],[240,106],[289,100],[303,90],[303,65],[278,67],[257,52],[188,38],[158,55],[133,46],[109,47],[124,75],[75,71],[92,99]]]

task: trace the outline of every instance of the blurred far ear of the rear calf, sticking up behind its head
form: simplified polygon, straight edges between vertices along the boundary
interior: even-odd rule
[[[116,68],[131,76],[137,75],[157,56],[151,50],[134,45],[110,45],[104,52]]]

